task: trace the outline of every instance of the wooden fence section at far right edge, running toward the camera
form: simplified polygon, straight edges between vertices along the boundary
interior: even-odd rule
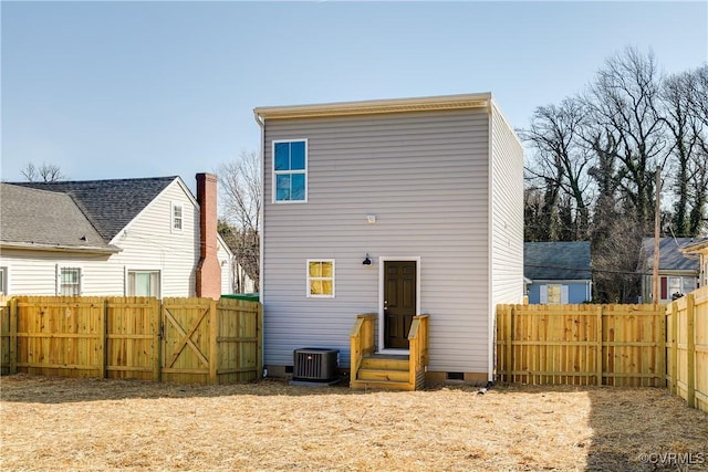
[[[708,286],[666,307],[668,388],[708,412]]]

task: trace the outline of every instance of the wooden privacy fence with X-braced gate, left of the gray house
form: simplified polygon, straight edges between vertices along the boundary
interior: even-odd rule
[[[2,374],[232,384],[262,373],[262,310],[221,298],[13,297]]]

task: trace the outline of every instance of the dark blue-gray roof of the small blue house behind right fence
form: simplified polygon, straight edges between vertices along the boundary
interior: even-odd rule
[[[590,242],[527,242],[523,275],[531,280],[591,280]]]

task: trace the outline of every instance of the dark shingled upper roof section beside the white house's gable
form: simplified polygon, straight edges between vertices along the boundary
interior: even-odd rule
[[[18,186],[71,196],[105,241],[111,241],[179,177],[20,182]]]

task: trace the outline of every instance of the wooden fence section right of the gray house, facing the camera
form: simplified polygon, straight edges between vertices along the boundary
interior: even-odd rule
[[[665,310],[499,305],[497,374],[510,382],[664,387]]]

